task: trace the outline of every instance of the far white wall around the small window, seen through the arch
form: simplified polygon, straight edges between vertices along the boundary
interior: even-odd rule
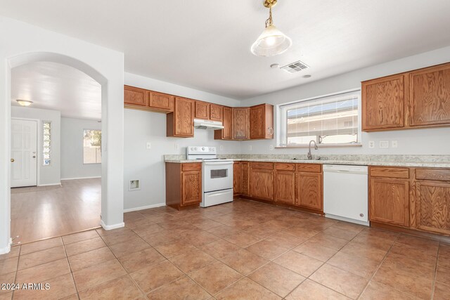
[[[61,118],[61,179],[101,177],[101,164],[83,163],[84,129],[101,130],[89,119]]]

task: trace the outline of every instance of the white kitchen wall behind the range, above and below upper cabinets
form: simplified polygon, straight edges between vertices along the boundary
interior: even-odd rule
[[[237,106],[239,101],[177,86],[155,79],[125,73],[125,84],[172,93],[221,105]],[[124,112],[124,209],[165,204],[165,154],[185,154],[188,145],[217,146],[219,154],[240,151],[238,141],[214,141],[214,131],[195,129],[194,138],[167,138],[166,115],[160,112]],[[146,149],[150,142],[151,149]],[[175,145],[178,145],[176,150]],[[220,151],[220,145],[224,150]],[[141,190],[128,190],[131,180],[139,179]]]

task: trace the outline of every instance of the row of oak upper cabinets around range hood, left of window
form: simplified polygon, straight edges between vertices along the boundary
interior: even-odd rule
[[[194,119],[221,122],[214,139],[247,141],[274,138],[274,106],[228,107],[134,86],[124,86],[124,107],[167,114],[167,136],[192,138]]]

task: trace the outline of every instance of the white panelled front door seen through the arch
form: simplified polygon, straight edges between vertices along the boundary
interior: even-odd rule
[[[37,121],[11,119],[11,188],[37,185]]]

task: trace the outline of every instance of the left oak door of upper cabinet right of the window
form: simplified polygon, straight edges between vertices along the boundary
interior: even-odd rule
[[[363,131],[404,127],[404,74],[364,81],[361,105]]]

